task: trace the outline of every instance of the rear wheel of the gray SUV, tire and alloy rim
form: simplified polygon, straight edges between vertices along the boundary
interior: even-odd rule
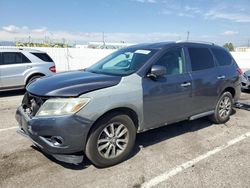
[[[218,100],[215,112],[209,119],[216,124],[226,123],[230,119],[233,107],[233,97],[230,92],[224,92]]]

